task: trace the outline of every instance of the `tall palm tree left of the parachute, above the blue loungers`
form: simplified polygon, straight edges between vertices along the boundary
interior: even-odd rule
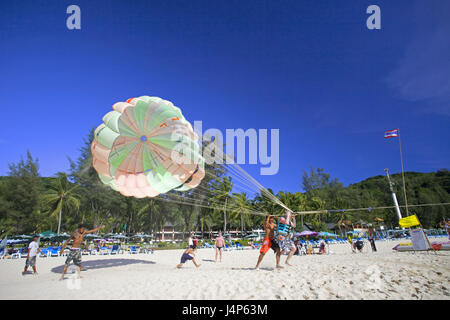
[[[61,230],[61,216],[63,208],[78,209],[80,199],[75,194],[75,189],[79,185],[71,186],[67,180],[67,173],[58,172],[54,182],[47,186],[47,192],[44,194],[44,203],[50,207],[50,215],[58,214],[58,234]]]

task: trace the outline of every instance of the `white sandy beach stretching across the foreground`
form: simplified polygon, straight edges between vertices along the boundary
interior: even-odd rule
[[[254,270],[258,250],[199,249],[195,268],[175,269],[182,250],[154,254],[83,256],[79,283],[59,281],[65,257],[38,258],[39,275],[22,276],[25,259],[0,260],[1,299],[450,299],[450,252],[395,252],[398,242],[347,244],[331,254],[294,256],[292,267],[275,270],[270,250]],[[282,264],[286,256],[281,257]],[[79,284],[79,288],[76,286]]]

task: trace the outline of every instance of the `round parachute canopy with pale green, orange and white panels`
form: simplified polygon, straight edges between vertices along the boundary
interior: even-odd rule
[[[170,101],[142,96],[117,102],[91,145],[100,180],[125,196],[186,191],[205,176],[198,136]]]

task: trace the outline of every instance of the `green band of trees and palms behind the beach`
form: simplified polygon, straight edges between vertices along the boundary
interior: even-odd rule
[[[281,214],[283,208],[263,197],[250,198],[233,192],[233,179],[221,166],[207,165],[210,173],[200,188],[184,194],[205,206],[173,201],[171,194],[155,198],[136,199],[111,190],[98,178],[92,167],[91,131],[80,149],[78,159],[70,161],[68,172],[54,177],[41,177],[39,162],[30,152],[17,163],[9,165],[7,176],[0,177],[0,231],[2,234],[32,234],[44,230],[72,232],[80,223],[105,225],[105,232],[147,233],[161,230],[170,222],[180,231],[251,230],[261,228],[264,217],[252,211]],[[406,172],[408,204],[450,202],[450,175],[441,169],[432,173]],[[402,205],[401,175],[391,175]],[[275,194],[294,211],[347,209],[392,206],[387,179],[383,175],[344,186],[322,168],[310,167],[299,172],[299,190]],[[273,193],[271,189],[269,192]],[[175,191],[174,191],[175,192]],[[205,194],[206,192],[206,194]],[[414,207],[426,228],[439,227],[449,218],[447,206]],[[383,220],[387,226],[397,226],[394,209],[311,214],[301,218],[317,231],[328,231],[327,223],[347,228],[360,221]],[[299,221],[300,222],[300,221]],[[301,224],[298,228],[301,229]]]

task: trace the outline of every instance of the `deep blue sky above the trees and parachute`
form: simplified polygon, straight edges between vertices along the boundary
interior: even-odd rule
[[[81,8],[81,30],[66,8]],[[366,8],[381,8],[381,30]],[[310,165],[345,184],[450,167],[450,1],[0,2],[0,175],[29,149],[67,170],[112,104],[171,100],[207,128],[280,129],[280,170]]]

